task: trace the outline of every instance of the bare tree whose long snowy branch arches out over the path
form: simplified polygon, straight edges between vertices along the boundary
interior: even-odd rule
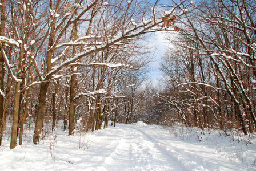
[[[74,5],[73,9],[71,11],[75,11],[75,9],[79,9],[79,7],[81,7],[82,2],[79,2],[79,5]],[[47,87],[49,86],[49,80],[52,79],[53,75],[56,74],[57,72],[61,71],[62,68],[67,67],[69,65],[74,65],[74,62],[77,62],[79,59],[82,59],[85,56],[89,56],[91,54],[95,54],[99,51],[105,50],[106,48],[109,47],[114,47],[114,46],[119,46],[119,44],[123,44],[125,43],[125,40],[127,39],[134,39],[137,38],[139,35],[145,34],[147,32],[154,32],[154,31],[160,31],[164,28],[156,28],[157,25],[163,23],[163,21],[161,19],[157,19],[157,16],[153,13],[153,20],[146,20],[144,16],[146,16],[146,13],[142,13],[141,11],[138,13],[139,16],[141,16],[142,18],[139,18],[141,21],[140,25],[136,25],[134,26],[134,22],[127,22],[127,18],[131,18],[131,16],[138,16],[138,15],[134,15],[135,11],[137,11],[137,6],[131,6],[133,5],[133,3],[127,3],[127,2],[121,2],[120,6],[116,9],[119,13],[120,10],[124,10],[125,9],[125,15],[116,15],[117,13],[113,13],[115,10],[113,10],[113,8],[115,9],[115,6],[111,6],[111,5],[106,5],[105,8],[102,9],[101,15],[99,15],[100,19],[98,20],[98,26],[102,25],[103,28],[105,28],[105,30],[99,30],[98,32],[96,32],[96,35],[90,36],[89,39],[93,40],[93,42],[85,43],[82,42],[84,39],[88,39],[86,38],[78,38],[78,40],[74,41],[74,42],[69,42],[69,43],[62,43],[59,44],[59,40],[61,40],[63,32],[69,28],[71,25],[73,25],[73,23],[79,21],[79,19],[85,15],[86,13],[88,13],[90,10],[93,9],[94,6],[96,6],[98,3],[100,3],[101,5],[102,2],[98,2],[98,1],[94,1],[93,3],[90,3],[89,5],[85,5],[86,7],[84,7],[80,13],[78,13],[78,15],[74,15],[74,13],[71,13],[70,15],[65,15],[65,17],[63,17],[61,24],[65,23],[64,21],[66,21],[65,25],[63,25],[63,27],[61,27],[61,24],[58,25],[58,27],[54,27],[55,26],[55,22],[53,19],[53,22],[51,23],[51,28],[52,31],[50,32],[50,37],[49,37],[49,41],[51,41],[53,44],[49,44],[49,50],[47,50],[47,74],[44,78],[43,83],[41,83],[41,93],[40,93],[40,100],[39,100],[39,107],[38,107],[38,116],[37,116],[37,123],[35,126],[35,133],[34,133],[34,143],[37,144],[39,141],[39,135],[42,129],[42,123],[43,123],[43,113],[45,111],[45,95],[47,92]],[[145,3],[143,3],[145,4]],[[142,5],[143,5],[142,4]],[[120,8],[122,7],[123,8]],[[55,13],[58,13],[56,11],[59,10],[60,5],[57,3],[57,6],[55,6]],[[99,6],[101,7],[101,6]],[[111,8],[110,8],[111,7]],[[135,9],[133,9],[133,7]],[[141,7],[141,6],[140,6]],[[140,8],[138,7],[138,8]],[[51,7],[51,10],[54,10]],[[113,13],[111,14],[110,11]],[[105,15],[105,13],[110,13],[110,17],[109,15]],[[168,14],[169,15],[169,14]],[[69,16],[69,17],[67,17]],[[148,15],[150,16],[150,15]],[[107,17],[107,18],[105,18]],[[53,17],[55,18],[55,17]],[[159,18],[162,18],[159,17]],[[115,25],[113,26],[111,25],[106,25],[105,22],[106,21],[110,21],[111,19],[114,19],[115,21]],[[169,18],[167,17],[167,20]],[[171,18],[170,18],[171,19]],[[101,23],[103,22],[103,23]],[[138,22],[138,21],[137,21]],[[97,28],[99,29],[100,27]],[[54,29],[55,28],[55,29]],[[97,30],[96,28],[96,30]],[[120,28],[120,30],[116,30],[117,28]],[[58,30],[59,29],[59,30]],[[53,42],[52,40],[54,39],[54,35],[56,32],[59,32],[58,36],[55,38],[55,42]],[[115,31],[112,33],[112,35],[109,35],[110,31]],[[52,37],[53,36],[53,37]],[[97,41],[95,40],[95,38],[97,38]],[[100,39],[99,39],[100,38]],[[61,47],[65,47],[65,50],[67,50],[67,48],[70,48],[71,46],[74,46],[74,44],[78,44],[79,46],[81,46],[81,44],[85,45],[85,51],[75,55],[73,58],[70,58],[69,60],[65,60],[64,62],[58,64],[56,67],[53,67],[53,63],[51,62],[51,58],[54,54],[54,51],[56,51],[58,48]],[[56,57],[57,59],[60,59],[62,55]],[[79,63],[77,63],[79,64]],[[86,66],[99,66],[102,64],[99,63],[94,63],[94,62],[89,62],[87,64],[82,64],[82,65],[86,65]],[[126,66],[126,64],[123,64],[123,66]]]

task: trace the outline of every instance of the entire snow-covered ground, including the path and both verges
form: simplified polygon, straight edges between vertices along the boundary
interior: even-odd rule
[[[33,131],[26,131],[13,150],[8,136],[0,147],[0,170],[256,170],[255,135],[247,141],[138,122],[74,136],[57,128],[38,145]]]

